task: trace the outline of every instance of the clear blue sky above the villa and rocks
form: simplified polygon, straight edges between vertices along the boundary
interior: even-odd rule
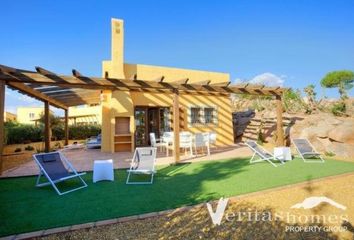
[[[354,70],[354,1],[2,1],[0,64],[100,76],[110,18],[125,61],[229,72],[304,88]],[[326,90],[337,97],[337,90]],[[353,96],[353,90],[350,95]],[[8,91],[6,109],[40,103]]]

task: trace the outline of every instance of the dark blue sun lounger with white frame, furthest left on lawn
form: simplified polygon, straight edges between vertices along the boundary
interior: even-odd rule
[[[52,185],[59,195],[87,187],[87,184],[81,178],[81,176],[86,173],[78,173],[62,153],[51,152],[34,154],[33,159],[37,163],[40,170],[36,182],[36,187]],[[48,182],[40,183],[42,176],[45,176]],[[80,187],[61,192],[56,184],[72,178],[79,178],[82,185]]]

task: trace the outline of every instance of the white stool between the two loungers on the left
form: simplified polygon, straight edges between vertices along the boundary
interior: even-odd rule
[[[114,181],[113,160],[95,160],[93,163],[93,182]]]

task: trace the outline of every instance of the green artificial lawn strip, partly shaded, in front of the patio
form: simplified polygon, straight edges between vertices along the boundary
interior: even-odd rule
[[[115,171],[114,182],[93,184],[90,172],[84,176],[87,188],[63,196],[51,186],[35,188],[35,177],[1,179],[0,236],[161,211],[353,171],[354,163],[335,160],[295,159],[275,168],[228,159],[159,167],[152,185],[126,185],[125,170]]]

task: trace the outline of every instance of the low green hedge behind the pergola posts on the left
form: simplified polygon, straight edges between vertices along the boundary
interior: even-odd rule
[[[5,124],[5,144],[27,144],[30,142],[41,142],[44,139],[43,125],[29,124]],[[69,139],[79,140],[101,133],[100,125],[71,125],[69,126]],[[64,126],[52,128],[52,139],[63,140],[65,137]]]

